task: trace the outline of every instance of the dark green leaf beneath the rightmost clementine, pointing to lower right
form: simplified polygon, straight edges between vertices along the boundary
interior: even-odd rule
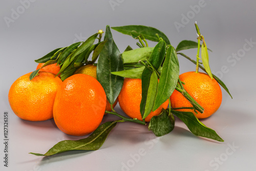
[[[210,129],[202,122],[200,122],[193,113],[179,112],[175,110],[170,110],[170,112],[180,118],[180,120],[182,120],[187,125],[188,129],[194,135],[210,138],[221,142],[224,141],[214,130]]]

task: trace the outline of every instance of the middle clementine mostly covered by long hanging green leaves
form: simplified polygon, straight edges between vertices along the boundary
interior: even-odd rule
[[[122,90],[118,96],[118,102],[122,111],[131,118],[142,120],[140,114],[140,102],[142,98],[141,79],[125,78]],[[162,112],[162,109],[168,107],[168,100],[166,100],[160,107],[151,112],[145,121],[149,122],[153,116],[157,116]]]

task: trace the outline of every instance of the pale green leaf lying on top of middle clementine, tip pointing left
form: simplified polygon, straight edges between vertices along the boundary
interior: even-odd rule
[[[140,78],[141,79],[141,74],[145,67],[139,67],[135,69],[130,69],[130,70],[123,70],[123,71],[117,71],[117,72],[111,72],[111,74],[118,75],[124,78]]]

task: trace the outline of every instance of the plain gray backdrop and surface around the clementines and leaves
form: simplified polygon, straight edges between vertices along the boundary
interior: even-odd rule
[[[22,2],[29,4],[25,8]],[[202,1],[1,1],[0,137],[4,139],[3,113],[8,111],[10,138],[8,168],[3,166],[2,140],[0,143],[1,170],[254,170],[256,2],[205,0],[203,7],[194,12],[193,7],[199,2]],[[182,20],[187,14],[190,19]],[[7,17],[13,19],[9,24]],[[223,91],[220,109],[202,120],[225,142],[196,137],[177,119],[173,132],[160,138],[147,131],[146,126],[119,123],[99,151],[45,158],[28,154],[46,153],[58,141],[80,138],[65,135],[53,120],[28,122],[11,111],[9,88],[19,76],[35,70],[34,59],[84,40],[106,25],[152,26],[163,31],[177,47],[183,39],[196,41],[195,21],[213,51],[209,53],[212,72],[226,83],[233,96],[231,99]],[[183,27],[177,29],[175,23]],[[114,30],[112,33],[121,52],[127,45],[137,48],[130,36]],[[150,46],[154,45],[150,42]],[[196,59],[196,50],[184,53]],[[181,56],[179,61],[180,73],[195,71],[193,63]],[[119,106],[116,110],[121,113]],[[107,116],[103,121],[113,119],[117,118]]]

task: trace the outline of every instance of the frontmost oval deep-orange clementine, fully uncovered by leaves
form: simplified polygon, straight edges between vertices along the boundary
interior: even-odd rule
[[[99,126],[105,113],[106,95],[93,77],[75,74],[63,81],[53,106],[58,128],[69,135],[83,136]]]

